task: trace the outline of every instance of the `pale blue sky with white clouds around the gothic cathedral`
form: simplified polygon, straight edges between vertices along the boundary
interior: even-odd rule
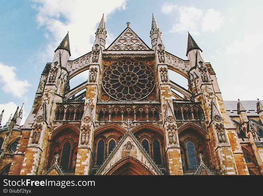
[[[99,3],[98,3],[99,2]],[[70,60],[91,51],[105,14],[106,46],[126,28],[126,22],[151,47],[152,13],[162,32],[165,50],[186,57],[189,31],[216,73],[224,100],[263,99],[261,48],[263,1],[158,0],[1,0],[0,110],[5,124],[16,107],[29,114],[39,78],[54,50],[69,31]],[[71,88],[87,80],[87,71],[70,80]],[[187,80],[169,72],[187,88]]]

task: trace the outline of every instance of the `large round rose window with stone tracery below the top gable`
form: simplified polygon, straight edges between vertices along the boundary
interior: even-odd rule
[[[149,95],[155,86],[154,72],[136,60],[121,60],[103,72],[103,89],[114,99],[136,101]]]

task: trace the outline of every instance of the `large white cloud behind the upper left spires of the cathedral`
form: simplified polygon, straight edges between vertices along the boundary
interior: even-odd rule
[[[103,0],[99,6],[97,1],[33,0],[33,2],[35,4],[32,7],[37,10],[36,22],[39,27],[45,27],[48,31],[44,34],[48,38],[46,52],[40,56],[43,61],[52,60],[54,50],[68,31],[71,59],[88,53],[91,51],[95,40],[94,33],[103,13],[106,20],[108,15],[116,10],[124,10],[126,6],[126,0]],[[108,43],[107,39],[106,42]]]

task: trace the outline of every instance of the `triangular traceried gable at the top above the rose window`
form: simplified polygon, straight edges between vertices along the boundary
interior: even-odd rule
[[[151,50],[141,38],[129,27],[118,36],[107,50]]]

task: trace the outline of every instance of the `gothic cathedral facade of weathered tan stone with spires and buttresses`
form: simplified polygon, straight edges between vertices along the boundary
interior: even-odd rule
[[[22,106],[1,126],[1,175],[263,174],[261,102],[223,101],[190,34],[187,60],[165,50],[154,16],[151,48],[129,22],[107,48],[104,16],[95,34],[91,52],[75,60],[67,34],[25,124]],[[86,70],[71,89],[69,80]]]

